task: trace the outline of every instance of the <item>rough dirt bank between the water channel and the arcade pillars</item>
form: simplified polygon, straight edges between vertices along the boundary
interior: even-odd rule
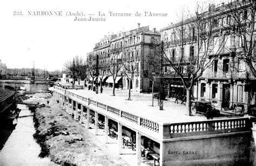
[[[53,97],[47,100],[49,107],[37,108],[34,118],[37,130],[34,138],[42,148],[39,156],[49,156],[53,162],[62,165],[129,165],[72,120]],[[63,132],[69,135],[63,135]]]

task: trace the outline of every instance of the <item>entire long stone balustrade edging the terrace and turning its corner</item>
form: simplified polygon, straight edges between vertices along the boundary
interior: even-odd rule
[[[131,122],[134,125],[143,127],[144,129],[148,129],[152,133],[162,133],[163,135],[161,136],[161,138],[163,139],[248,131],[251,127],[251,121],[249,118],[232,118],[159,124],[156,121],[137,116],[136,114],[132,114],[127,111],[122,111],[110,105],[97,102],[96,100],[76,95],[75,93],[66,91],[65,89],[60,88],[58,86],[55,86],[55,89],[62,91],[70,96],[74,96],[83,101],[86,101],[86,103],[88,103],[89,105],[97,107],[99,110],[102,110],[102,113],[111,113],[112,116],[110,117],[113,119],[124,119]],[[89,102],[87,102],[88,100]]]

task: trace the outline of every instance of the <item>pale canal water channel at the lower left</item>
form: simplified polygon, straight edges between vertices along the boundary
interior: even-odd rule
[[[18,104],[21,109],[17,125],[0,151],[0,165],[57,165],[49,158],[38,157],[41,147],[33,139],[36,132],[33,114],[26,105]]]

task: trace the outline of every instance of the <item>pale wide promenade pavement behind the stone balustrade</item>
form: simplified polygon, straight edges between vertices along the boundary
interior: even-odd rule
[[[65,85],[65,82],[61,84]],[[159,110],[157,99],[153,100],[154,106],[152,106],[152,93],[131,93],[131,100],[127,100],[127,91],[115,89],[116,96],[112,96],[112,88],[106,87],[103,87],[103,93],[99,92],[98,94],[95,91],[88,90],[86,87],[83,90],[69,89],[68,91],[106,105],[111,105],[116,109],[156,121],[159,124],[207,120],[203,114],[188,116],[185,105],[174,103],[172,98],[164,100],[164,110]]]

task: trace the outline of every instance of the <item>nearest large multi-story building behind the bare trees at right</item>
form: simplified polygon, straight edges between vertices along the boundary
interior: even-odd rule
[[[194,98],[210,100],[215,106],[227,109],[235,105],[246,110],[248,104],[255,103],[253,88],[250,88],[254,78],[245,53],[250,47],[251,32],[255,31],[250,4],[249,1],[239,1],[210,5],[206,12],[160,30],[170,60],[179,64],[179,72],[184,74],[185,80],[190,81],[187,76],[191,64],[195,67],[203,60],[208,63],[194,84]],[[254,43],[254,37],[252,39]],[[205,41],[208,43],[203,45]],[[253,52],[251,57],[254,57]],[[164,68],[169,90],[185,91],[177,72],[169,66],[166,63]]]

